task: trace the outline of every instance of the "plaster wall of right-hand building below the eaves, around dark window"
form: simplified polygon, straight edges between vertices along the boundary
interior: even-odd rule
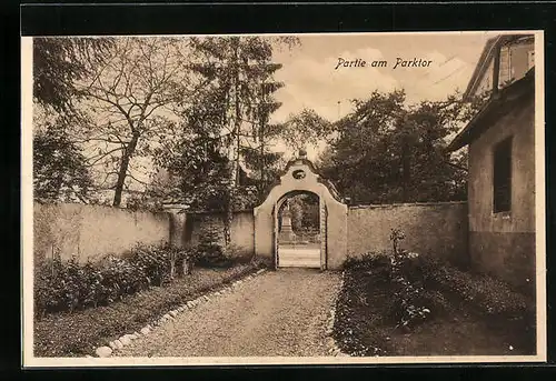
[[[493,149],[513,136],[512,211],[493,213]],[[535,104],[524,99],[469,147],[469,253],[477,270],[533,290]]]

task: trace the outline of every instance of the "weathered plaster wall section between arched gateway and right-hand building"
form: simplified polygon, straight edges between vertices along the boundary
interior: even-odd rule
[[[466,264],[467,203],[403,203],[350,207],[348,212],[348,253],[391,250],[391,229],[406,234],[401,247]]]

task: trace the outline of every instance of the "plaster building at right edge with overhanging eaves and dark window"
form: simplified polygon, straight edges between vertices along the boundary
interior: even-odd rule
[[[466,96],[492,96],[449,144],[468,147],[469,259],[478,271],[533,294],[535,242],[535,76],[532,37],[487,43]],[[507,57],[512,60],[506,64]],[[490,61],[493,64],[487,64]],[[495,79],[498,68],[498,80]],[[508,72],[518,78],[502,86]],[[490,87],[485,83],[490,82]]]

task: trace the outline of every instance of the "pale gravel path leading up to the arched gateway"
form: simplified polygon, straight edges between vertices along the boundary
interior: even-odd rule
[[[118,357],[329,355],[326,321],[339,274],[268,271],[178,314]]]

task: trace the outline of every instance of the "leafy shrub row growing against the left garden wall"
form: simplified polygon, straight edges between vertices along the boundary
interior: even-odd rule
[[[190,273],[196,257],[196,249],[169,244],[138,245],[122,258],[107,255],[85,264],[76,257],[62,261],[57,255],[34,269],[36,315],[108,305],[149,285],[163,285],[178,274],[180,264],[179,273]]]

